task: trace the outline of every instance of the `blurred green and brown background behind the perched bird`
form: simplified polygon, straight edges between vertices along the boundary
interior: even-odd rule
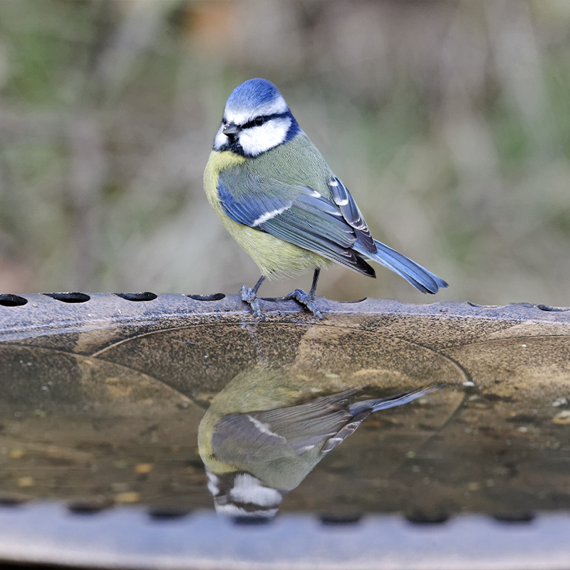
[[[570,305],[566,0],[1,1],[0,292],[252,286],[202,172],[256,76],[437,299]],[[435,300],[377,273],[318,293]]]

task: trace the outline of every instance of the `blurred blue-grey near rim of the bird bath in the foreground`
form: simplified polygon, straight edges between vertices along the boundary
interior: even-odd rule
[[[204,511],[165,522],[133,507],[75,516],[53,503],[0,507],[3,560],[88,568],[566,570],[569,535],[564,514],[424,524],[397,515],[335,521],[284,514],[244,527]]]

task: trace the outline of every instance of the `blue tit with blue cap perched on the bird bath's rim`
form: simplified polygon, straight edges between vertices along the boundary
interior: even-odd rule
[[[242,299],[261,318],[257,291],[264,279],[314,270],[311,291],[296,299],[315,316],[321,268],[333,262],[375,277],[377,261],[423,293],[447,283],[376,241],[356,202],[301,130],[284,98],[266,79],[234,89],[204,172],[210,204],[232,237],[254,259],[261,277]]]

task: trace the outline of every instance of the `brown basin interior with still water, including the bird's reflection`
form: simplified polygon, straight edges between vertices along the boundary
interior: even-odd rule
[[[150,303],[133,318],[119,298],[103,318],[90,302],[73,322],[4,326],[4,500],[160,512],[213,509],[216,495],[242,509],[229,514],[338,517],[570,507],[570,337],[548,323],[255,323],[159,318]]]

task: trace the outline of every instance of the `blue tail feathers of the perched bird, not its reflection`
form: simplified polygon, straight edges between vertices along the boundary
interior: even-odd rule
[[[364,257],[378,261],[379,264],[392,269],[422,293],[437,293],[440,288],[445,289],[447,287],[447,283],[441,277],[427,271],[425,267],[381,242],[374,240],[374,243],[378,248],[375,253],[369,252],[358,242],[353,245],[353,249],[356,249]]]

